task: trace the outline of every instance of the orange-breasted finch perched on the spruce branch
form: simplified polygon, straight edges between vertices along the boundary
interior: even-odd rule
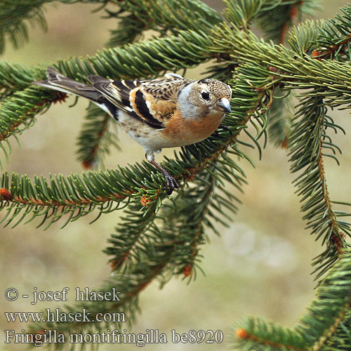
[[[185,79],[167,73],[161,79],[116,80],[92,75],[91,84],[69,79],[53,67],[47,79],[33,84],[78,95],[98,105],[145,150],[147,161],[164,176],[167,194],[179,185],[154,154],[164,147],[199,143],[221,126],[226,112],[232,112],[232,89],[217,79]]]

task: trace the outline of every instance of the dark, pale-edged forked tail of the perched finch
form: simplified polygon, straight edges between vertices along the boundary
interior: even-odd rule
[[[80,83],[79,81],[74,81],[69,79],[60,72],[56,71],[53,67],[48,67],[46,69],[46,79],[45,81],[34,81],[33,84],[37,86],[44,86],[45,88],[50,88],[56,91],[62,91],[63,93],[74,94],[82,96],[83,98],[88,98],[93,102],[99,102],[101,94],[87,84]]]

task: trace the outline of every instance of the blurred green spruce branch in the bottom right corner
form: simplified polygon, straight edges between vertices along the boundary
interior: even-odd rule
[[[235,347],[265,351],[347,350],[350,347],[346,329],[350,323],[350,291],[351,253],[345,250],[323,279],[316,298],[296,327],[282,328],[263,319],[244,319],[236,332]]]

